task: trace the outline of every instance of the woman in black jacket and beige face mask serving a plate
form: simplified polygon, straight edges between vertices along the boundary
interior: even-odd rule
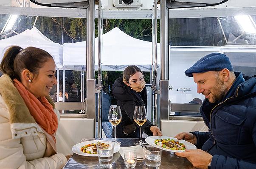
[[[133,120],[135,106],[147,109],[146,82],[140,68],[130,65],[124,69],[123,76],[115,80],[113,95],[122,112],[122,121],[116,126],[117,138],[138,138],[139,125]],[[149,120],[142,125],[142,131],[149,136],[162,136],[160,129]]]

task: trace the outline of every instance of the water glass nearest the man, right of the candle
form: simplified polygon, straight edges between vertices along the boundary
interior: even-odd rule
[[[143,147],[144,155],[145,155],[145,162],[146,168],[155,168],[160,167],[161,159],[162,159],[162,148],[153,147],[151,145],[146,145]]]

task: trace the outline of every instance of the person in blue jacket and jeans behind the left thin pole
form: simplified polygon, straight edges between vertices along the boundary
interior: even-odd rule
[[[108,120],[108,112],[110,110],[110,96],[104,92],[104,87],[103,87],[103,98],[102,98],[102,129],[104,131],[104,134],[106,135],[107,138],[112,138],[112,125]],[[96,104],[98,104],[98,99]],[[96,111],[96,120],[98,122],[98,109]],[[98,134],[98,123],[96,123],[96,136]]]

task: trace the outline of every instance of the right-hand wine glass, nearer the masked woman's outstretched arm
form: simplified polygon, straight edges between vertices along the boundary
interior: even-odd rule
[[[146,144],[141,140],[141,126],[146,123],[146,108],[145,106],[135,106],[133,120],[140,126],[140,140],[135,142],[135,145]]]

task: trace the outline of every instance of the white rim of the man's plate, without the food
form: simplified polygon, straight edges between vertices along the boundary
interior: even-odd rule
[[[150,136],[150,137],[147,137],[145,139],[145,141],[146,141],[146,143],[148,143],[149,145],[152,145],[154,147],[161,147],[161,146],[155,144],[156,139],[173,139],[173,140],[179,141],[180,143],[183,143],[186,146],[186,149],[197,149],[197,147],[194,144],[190,143],[190,142],[187,142],[185,140],[178,140],[174,137],[168,137],[168,136]],[[185,151],[185,150],[170,150],[170,149],[167,149],[167,148],[163,148],[163,150],[170,151],[170,152],[175,152],[175,153],[180,153],[180,152]]]

